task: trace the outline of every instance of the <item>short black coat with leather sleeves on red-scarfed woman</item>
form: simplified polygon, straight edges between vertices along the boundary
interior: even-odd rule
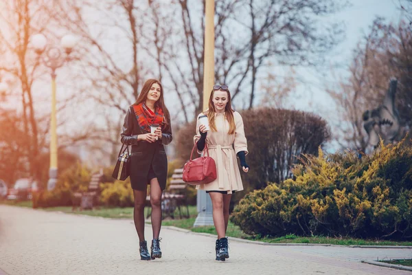
[[[163,144],[172,142],[172,129],[168,124],[157,142],[138,141],[137,135],[145,134],[140,128],[133,107],[127,110],[124,118],[122,143],[132,146],[130,156],[130,184],[135,190],[146,190],[150,179],[157,177],[161,190],[166,188],[168,158]]]

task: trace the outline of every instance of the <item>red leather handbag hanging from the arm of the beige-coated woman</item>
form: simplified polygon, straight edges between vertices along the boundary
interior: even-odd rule
[[[214,162],[214,159],[209,157],[207,144],[205,144],[207,157],[192,159],[195,147],[196,144],[193,146],[190,160],[183,166],[183,181],[190,185],[208,184],[209,182],[214,181],[217,177],[216,163]]]

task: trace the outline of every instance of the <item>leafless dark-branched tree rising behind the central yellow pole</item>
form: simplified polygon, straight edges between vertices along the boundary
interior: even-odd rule
[[[187,74],[179,72],[196,102],[196,113],[203,105],[204,1],[201,7],[179,0]],[[336,23],[320,25],[318,19],[339,11],[339,1],[216,1],[216,80],[231,87],[233,98],[249,95],[249,108],[255,100],[260,69],[268,61],[282,65],[315,65],[339,39],[342,29]],[[201,18],[202,20],[196,21]],[[179,78],[179,74],[175,78]],[[191,88],[192,87],[192,88]]]

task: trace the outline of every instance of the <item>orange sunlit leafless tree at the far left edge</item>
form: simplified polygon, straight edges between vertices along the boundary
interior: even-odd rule
[[[39,63],[30,49],[30,36],[36,32],[46,32],[48,17],[43,17],[43,0],[3,1],[0,12],[0,41],[2,58],[0,72],[12,78],[14,96],[19,96],[22,109],[23,131],[30,138],[21,155],[31,155],[30,173],[36,176],[36,156],[41,151],[39,126],[34,104],[33,83],[39,77]],[[15,104],[15,102],[14,102]]]

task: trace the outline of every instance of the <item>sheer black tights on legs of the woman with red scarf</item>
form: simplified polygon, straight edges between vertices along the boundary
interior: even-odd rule
[[[152,231],[153,239],[159,239],[161,228],[161,195],[162,190],[159,186],[157,178],[150,180],[150,204],[152,205]],[[135,209],[133,211],[133,219],[135,220],[135,228],[139,241],[144,239],[144,206],[146,204],[146,190],[133,190],[135,197]]]

